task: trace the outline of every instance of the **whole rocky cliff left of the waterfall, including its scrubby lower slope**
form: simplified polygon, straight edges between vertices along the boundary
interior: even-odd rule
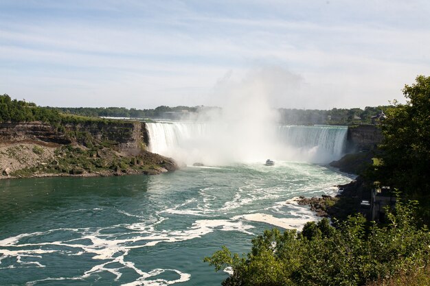
[[[146,151],[148,132],[137,121],[80,120],[0,123],[0,178],[160,174],[177,169]]]

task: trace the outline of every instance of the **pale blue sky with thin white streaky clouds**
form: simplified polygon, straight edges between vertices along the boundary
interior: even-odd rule
[[[0,94],[41,106],[405,102],[430,75],[428,0],[0,0]],[[233,89],[229,89],[234,86]]]

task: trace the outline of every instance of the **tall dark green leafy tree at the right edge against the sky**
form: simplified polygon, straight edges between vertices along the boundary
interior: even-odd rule
[[[384,141],[379,146],[379,165],[370,178],[398,188],[418,200],[425,222],[430,222],[430,77],[420,75],[405,85],[406,104],[394,102],[381,124]]]

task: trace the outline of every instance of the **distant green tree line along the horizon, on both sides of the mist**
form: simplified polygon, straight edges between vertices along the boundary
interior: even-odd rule
[[[387,112],[392,106],[367,106],[361,108],[332,108],[331,110],[302,110],[278,108],[280,123],[292,125],[352,125],[372,123],[372,117],[381,111]],[[172,118],[168,113],[199,113],[211,109],[205,106],[158,106],[153,109],[125,107],[49,107],[36,106],[32,102],[11,99],[0,95],[0,121],[58,121],[60,114],[81,115],[85,117],[125,117],[125,118]],[[219,109],[219,108],[218,108]]]

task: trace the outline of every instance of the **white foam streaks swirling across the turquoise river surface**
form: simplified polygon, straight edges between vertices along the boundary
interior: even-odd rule
[[[293,167],[304,169],[302,165],[293,165]],[[304,173],[303,170],[300,172],[299,174]],[[309,174],[309,176],[314,175]],[[291,193],[286,187],[279,187],[279,184],[278,187],[263,187],[264,184],[249,178],[241,178],[240,182],[242,181],[245,181],[242,186],[234,186],[234,189],[231,186],[225,187],[223,185],[218,188],[202,188],[198,194],[193,193],[192,198],[184,199],[185,202],[179,200],[179,202],[175,201],[168,206],[163,204],[163,208],[161,210],[158,208],[149,218],[142,215],[140,211],[133,213],[128,209],[127,211],[115,209],[115,212],[122,214],[120,217],[126,219],[126,223],[100,228],[58,228],[46,232],[23,233],[2,239],[0,240],[0,263],[3,260],[5,266],[2,269],[44,267],[45,254],[57,252],[58,254],[73,256],[73,259],[78,256],[87,259],[89,256],[92,257],[93,263],[88,267],[89,269],[82,271],[81,276],[45,278],[41,281],[85,281],[85,279],[97,278],[102,273],[109,273],[115,277],[115,280],[125,283],[122,282],[124,279],[122,275],[127,273],[126,270],[129,270],[129,272],[135,272],[139,278],[124,285],[171,285],[190,280],[190,274],[183,273],[180,269],[157,268],[144,271],[133,262],[127,261],[130,250],[150,248],[159,243],[177,243],[199,239],[217,231],[234,231],[254,236],[255,234],[251,232],[254,228],[251,222],[262,222],[280,228],[301,230],[306,222],[319,219],[308,207],[299,206],[295,201],[296,198],[282,200],[282,198],[288,198],[288,194]],[[306,185],[307,182],[303,184]],[[321,190],[335,191],[331,184],[329,186],[324,182],[323,185],[319,189],[317,186],[308,187],[308,191],[319,191],[319,193]],[[152,191],[155,193],[155,189]],[[304,193],[305,187],[298,189],[297,192]],[[263,202],[263,200],[267,201]],[[274,202],[277,200],[282,201]],[[78,211],[91,210],[99,211],[102,208]],[[245,214],[243,214],[244,212]],[[172,216],[169,217],[169,215]],[[182,220],[185,217],[186,219]],[[179,226],[175,226],[178,219]],[[193,222],[193,219],[196,220]],[[134,221],[134,223],[128,223],[130,221]],[[187,222],[189,223],[187,224]],[[61,233],[61,237],[73,237],[73,239],[51,241],[50,239],[56,235],[56,231],[70,232],[70,236],[64,236]],[[49,240],[48,242],[43,241],[45,237]],[[28,241],[36,241],[36,239],[41,242],[28,243]],[[173,272],[174,278],[171,278],[170,281],[162,275],[162,273],[168,274],[168,272]],[[179,278],[176,278],[175,275],[178,275]],[[169,273],[168,277],[172,277],[172,275]],[[32,285],[31,283],[36,284],[37,282],[31,281],[30,284],[27,284]]]

